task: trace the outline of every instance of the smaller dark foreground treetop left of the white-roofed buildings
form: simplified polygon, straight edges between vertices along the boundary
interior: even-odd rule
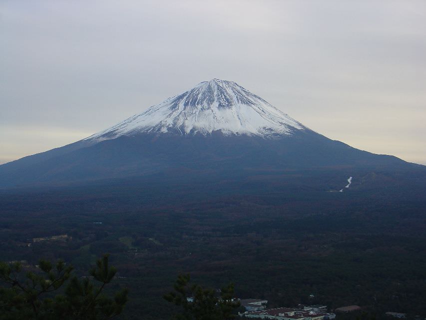
[[[189,274],[179,275],[174,291],[164,295],[164,298],[178,306],[180,312],[175,317],[178,320],[228,320],[236,316],[239,301],[233,299],[234,285],[223,287],[220,296],[214,289],[203,288],[198,284],[190,284]],[[188,299],[189,298],[189,299]]]

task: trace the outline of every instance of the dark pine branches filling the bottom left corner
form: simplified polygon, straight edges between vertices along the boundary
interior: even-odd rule
[[[54,267],[49,261],[40,260],[39,268],[40,272],[27,271],[22,275],[19,262],[0,262],[0,280],[5,283],[0,286],[0,320],[106,320],[121,313],[127,301],[127,289],[116,292],[113,298],[104,293],[117,272],[108,265],[108,254],[89,271],[97,285],[88,278],[71,277],[73,267],[62,260]],[[61,294],[55,295],[56,290],[61,290]]]

